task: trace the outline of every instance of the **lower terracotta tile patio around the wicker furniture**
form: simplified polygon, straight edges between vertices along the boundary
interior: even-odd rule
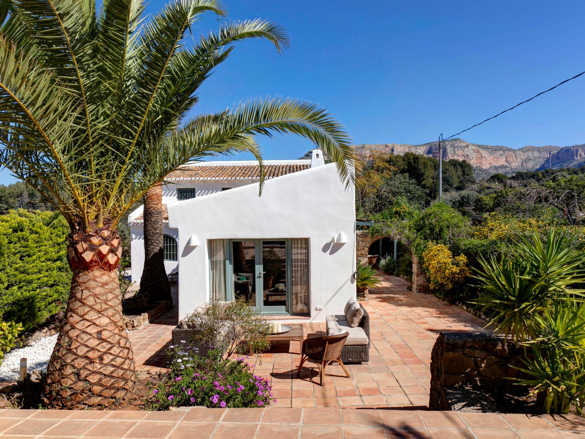
[[[349,365],[351,378],[345,378],[339,365],[329,366],[324,387],[318,384],[314,368],[303,366],[297,378],[300,346],[295,341],[278,342],[261,354],[256,373],[272,378],[277,407],[428,404],[431,349],[439,332],[482,331],[484,322],[434,296],[408,291],[408,283],[400,277],[381,276],[383,283],[371,289],[369,301],[363,303],[370,314],[370,362]],[[176,313],[174,308],[155,323],[130,332],[138,371],[159,371],[164,366]],[[306,325],[308,337],[325,331],[324,323]]]

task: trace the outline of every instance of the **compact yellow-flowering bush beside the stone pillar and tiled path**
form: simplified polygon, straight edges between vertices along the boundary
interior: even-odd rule
[[[426,270],[429,287],[434,291],[448,291],[464,282],[471,270],[465,255],[455,256],[446,245],[429,242],[422,253],[422,267]]]

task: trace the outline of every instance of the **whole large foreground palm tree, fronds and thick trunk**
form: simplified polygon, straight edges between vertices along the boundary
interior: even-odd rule
[[[73,279],[65,323],[44,380],[50,407],[109,407],[133,392],[122,326],[116,225],[133,203],[192,158],[250,152],[255,136],[295,133],[355,180],[350,139],[318,105],[266,98],[184,118],[232,43],[260,37],[278,50],[285,30],[226,22],[192,47],[185,33],[216,0],[172,0],[144,16],[142,0],[0,1],[0,163],[66,218]]]

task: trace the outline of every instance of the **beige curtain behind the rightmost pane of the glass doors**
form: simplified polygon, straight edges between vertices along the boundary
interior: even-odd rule
[[[291,239],[292,313],[309,312],[309,258],[308,239]]]

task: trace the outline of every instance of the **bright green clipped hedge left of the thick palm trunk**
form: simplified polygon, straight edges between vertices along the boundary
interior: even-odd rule
[[[71,286],[66,237],[56,212],[0,215],[0,317],[29,330],[63,311]]]

